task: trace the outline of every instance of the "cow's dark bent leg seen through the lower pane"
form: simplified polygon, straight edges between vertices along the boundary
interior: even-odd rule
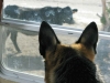
[[[18,37],[18,32],[16,31],[11,31],[11,40],[13,42],[13,45],[14,45],[15,50],[20,53],[21,50],[18,46],[16,37]]]

